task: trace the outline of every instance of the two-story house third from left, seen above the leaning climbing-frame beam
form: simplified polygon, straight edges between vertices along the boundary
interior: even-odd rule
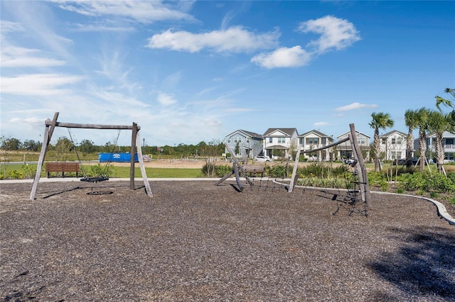
[[[318,149],[330,145],[331,143],[333,143],[333,138],[318,130],[311,130],[299,135],[299,144],[301,145],[302,151]],[[304,157],[306,160],[317,160],[319,162],[328,161],[333,159],[333,149],[321,150],[314,155],[311,153],[304,153]]]

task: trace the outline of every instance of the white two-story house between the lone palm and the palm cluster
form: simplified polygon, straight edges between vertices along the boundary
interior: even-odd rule
[[[385,160],[400,160],[406,158],[407,134],[392,130],[380,135],[380,158]],[[382,157],[382,155],[384,155]],[[414,155],[414,150],[412,150]]]

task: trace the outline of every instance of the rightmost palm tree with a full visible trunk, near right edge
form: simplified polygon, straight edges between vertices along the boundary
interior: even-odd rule
[[[440,111],[431,111],[428,115],[428,130],[436,135],[434,143],[434,152],[436,153],[438,171],[442,172],[442,164],[444,163],[444,131],[449,130],[451,116],[449,113],[441,113]]]

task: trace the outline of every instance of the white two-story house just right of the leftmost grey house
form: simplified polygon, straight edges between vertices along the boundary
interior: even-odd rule
[[[277,157],[291,157],[299,144],[299,133],[296,128],[269,128],[264,132],[265,155]]]

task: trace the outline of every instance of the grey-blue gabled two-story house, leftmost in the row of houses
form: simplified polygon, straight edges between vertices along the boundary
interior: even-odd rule
[[[226,145],[238,158],[254,158],[262,155],[262,135],[247,131],[235,130],[225,136]],[[229,153],[226,148],[225,153]]]

